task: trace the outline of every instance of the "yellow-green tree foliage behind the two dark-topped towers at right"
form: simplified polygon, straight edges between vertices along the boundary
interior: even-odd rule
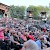
[[[29,6],[27,8],[27,10],[29,11],[33,11],[33,18],[34,19],[42,19],[42,17],[39,16],[40,12],[48,12],[50,11],[49,7],[44,7],[44,6]]]

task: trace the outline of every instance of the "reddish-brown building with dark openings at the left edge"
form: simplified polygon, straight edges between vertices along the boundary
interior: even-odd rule
[[[3,3],[0,3],[0,18],[8,17],[9,13],[9,6]]]

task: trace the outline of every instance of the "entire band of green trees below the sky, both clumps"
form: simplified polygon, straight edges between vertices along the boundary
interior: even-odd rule
[[[14,5],[10,6],[10,9],[9,9],[11,17],[20,18],[20,19],[24,18],[25,10],[26,10],[25,6],[14,6]],[[48,12],[48,11],[50,11],[50,8],[49,7],[43,7],[43,6],[31,5],[27,8],[27,10],[33,12],[33,18],[34,19],[41,19],[41,17],[39,16],[40,12],[41,11]]]

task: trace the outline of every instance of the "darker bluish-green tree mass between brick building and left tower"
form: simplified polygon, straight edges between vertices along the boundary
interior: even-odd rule
[[[21,18],[23,19],[24,18],[24,14],[25,14],[25,6],[10,6],[10,15],[11,17],[13,18]]]

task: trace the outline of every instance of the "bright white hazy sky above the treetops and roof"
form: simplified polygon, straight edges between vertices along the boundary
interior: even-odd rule
[[[29,6],[29,5],[42,5],[49,6],[50,0],[0,0],[1,3],[6,5],[15,5],[15,6]]]

